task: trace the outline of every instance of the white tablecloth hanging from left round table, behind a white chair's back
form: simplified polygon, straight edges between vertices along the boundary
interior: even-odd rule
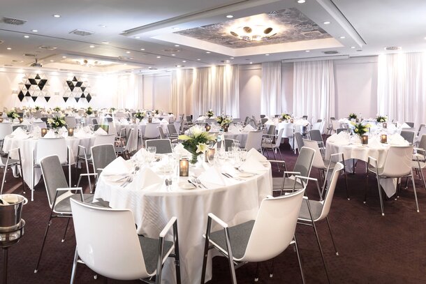
[[[32,172],[32,161],[31,157],[37,147],[39,138],[28,137],[27,139],[16,139],[13,135],[7,135],[3,142],[3,151],[8,152],[11,149],[19,148],[21,151],[22,159],[22,171],[24,172],[24,181],[28,186],[31,186],[31,172]],[[66,137],[66,145],[71,149],[71,163],[77,159],[78,146],[84,146],[86,149],[90,149],[93,146],[95,135],[87,134],[82,137]],[[17,157],[12,157],[17,158]],[[41,168],[36,167],[34,171],[34,186],[38,184],[41,179]]]

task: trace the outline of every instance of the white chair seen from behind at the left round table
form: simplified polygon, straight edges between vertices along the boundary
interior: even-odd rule
[[[62,166],[68,166],[68,183],[71,187],[71,153],[66,146],[65,138],[40,138],[31,157],[33,163],[31,177],[31,201],[34,201],[35,169],[40,167],[40,162],[47,156],[57,155]]]

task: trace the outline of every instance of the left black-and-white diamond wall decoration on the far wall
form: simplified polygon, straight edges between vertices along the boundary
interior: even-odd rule
[[[22,82],[18,84],[19,91],[17,98],[22,102],[24,100],[40,100],[44,98],[46,102],[49,101],[50,95],[48,91],[49,84],[44,74],[31,74],[26,73],[22,77]]]

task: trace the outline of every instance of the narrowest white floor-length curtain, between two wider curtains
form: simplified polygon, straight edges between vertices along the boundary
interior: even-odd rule
[[[260,113],[281,114],[281,62],[262,63]]]

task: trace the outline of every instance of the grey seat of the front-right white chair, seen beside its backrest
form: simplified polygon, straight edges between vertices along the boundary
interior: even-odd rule
[[[230,246],[234,258],[240,259],[244,256],[247,244],[249,243],[251,230],[253,230],[253,225],[254,220],[251,220],[240,225],[229,227]],[[220,246],[223,251],[226,251],[226,237],[223,230],[210,233],[210,239]]]

